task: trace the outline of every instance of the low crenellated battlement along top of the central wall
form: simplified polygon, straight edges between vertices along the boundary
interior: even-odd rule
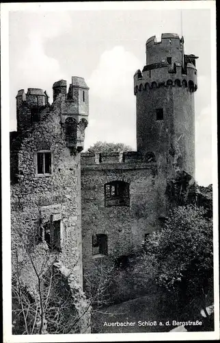
[[[139,152],[113,152],[111,154],[91,154],[90,152],[81,153],[81,165],[105,165],[115,163],[149,163],[155,165],[154,156]]]

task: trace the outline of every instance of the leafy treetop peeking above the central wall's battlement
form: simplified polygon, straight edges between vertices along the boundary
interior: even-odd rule
[[[113,152],[126,152],[126,151],[133,151],[133,148],[129,145],[124,143],[107,143],[97,141],[94,145],[91,145],[87,152],[91,152],[92,154],[98,154],[101,152],[102,154],[111,154]]]

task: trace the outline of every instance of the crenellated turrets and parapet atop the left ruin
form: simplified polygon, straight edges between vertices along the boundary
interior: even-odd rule
[[[84,78],[72,76],[68,92],[66,80],[55,82],[53,106],[49,104],[46,91],[41,88],[28,88],[27,93],[20,89],[16,95],[16,104],[18,132],[25,132],[33,123],[44,120],[44,114],[58,110],[66,145],[75,152],[83,150],[89,115],[89,87]]]

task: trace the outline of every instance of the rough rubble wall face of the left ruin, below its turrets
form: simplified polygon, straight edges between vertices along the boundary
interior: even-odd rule
[[[44,120],[35,123],[20,139],[18,183],[11,185],[12,254],[20,246],[16,230],[33,242],[42,224],[61,220],[59,259],[74,268],[82,281],[80,157],[71,154],[60,124],[60,101],[53,104]],[[16,147],[14,142],[13,147]],[[36,174],[36,152],[52,152],[51,174]]]

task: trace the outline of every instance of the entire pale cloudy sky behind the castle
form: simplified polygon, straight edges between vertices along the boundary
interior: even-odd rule
[[[155,1],[156,2],[156,1]],[[162,2],[162,1],[161,1]],[[175,1],[176,2],[176,1]],[[190,1],[189,1],[190,2]],[[91,7],[91,6],[90,6]],[[195,93],[195,179],[212,183],[210,10],[10,11],[10,130],[18,89],[43,88],[52,102],[57,80],[85,78],[90,87],[85,149],[96,141],[136,149],[133,75],[146,62],[150,36],[184,36],[185,54],[199,56]],[[215,114],[214,114],[215,115]]]

